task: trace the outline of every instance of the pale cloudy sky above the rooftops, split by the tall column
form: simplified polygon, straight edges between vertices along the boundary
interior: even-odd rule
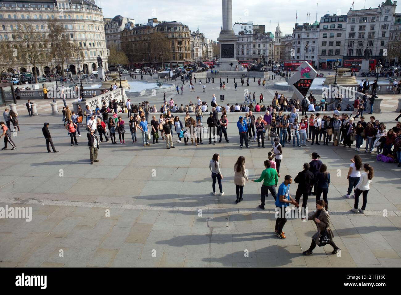
[[[385,0],[355,0],[354,10],[365,8],[377,8]],[[105,17],[114,17],[121,14],[124,17],[134,18],[135,23],[144,24],[148,18],[156,17],[158,20],[176,20],[189,26],[191,31],[205,33],[209,39],[219,37],[222,25],[222,1],[176,1],[176,0],[96,0],[103,8]],[[346,14],[353,0],[314,1],[314,0],[233,0],[233,24],[234,22],[253,21],[253,24],[264,24],[266,31],[270,29],[274,34],[277,22],[279,22],[282,35],[292,34],[296,14],[298,22],[304,23],[316,20],[316,3],[318,3],[318,21],[320,16],[326,13]],[[366,2],[366,4],[365,4]],[[244,4],[246,3],[246,4]],[[310,12],[310,17],[306,14]],[[401,4],[397,5],[396,12],[401,12]],[[269,29],[269,22],[271,27]]]

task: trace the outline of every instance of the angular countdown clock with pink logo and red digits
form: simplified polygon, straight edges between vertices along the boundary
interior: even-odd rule
[[[295,74],[287,81],[294,91],[292,100],[299,98],[300,102],[302,102],[306,94],[308,94],[316,74],[316,70],[307,61],[304,61],[296,69]]]

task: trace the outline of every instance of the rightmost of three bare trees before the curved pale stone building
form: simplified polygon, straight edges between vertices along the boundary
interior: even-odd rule
[[[50,57],[60,65],[61,69],[64,69],[66,61],[78,58],[85,59],[78,44],[70,38],[69,33],[67,33],[63,24],[57,18],[49,18],[47,23],[50,31],[48,36],[51,46]],[[64,70],[61,72],[64,77]]]

